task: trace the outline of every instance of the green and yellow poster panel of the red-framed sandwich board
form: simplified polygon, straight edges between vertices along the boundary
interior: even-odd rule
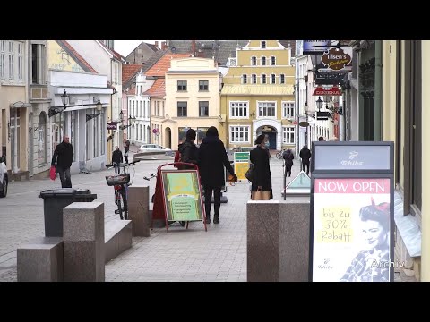
[[[202,220],[202,198],[196,170],[161,171],[168,221]]]

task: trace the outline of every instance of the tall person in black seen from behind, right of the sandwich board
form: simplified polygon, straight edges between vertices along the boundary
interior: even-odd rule
[[[198,165],[202,186],[204,189],[204,208],[206,211],[206,224],[211,224],[211,199],[213,191],[214,216],[213,224],[219,224],[219,208],[221,207],[221,187],[226,184],[224,167],[233,175],[233,182],[237,176],[228,160],[224,143],[219,140],[216,127],[211,126],[206,131],[206,137],[198,150]]]

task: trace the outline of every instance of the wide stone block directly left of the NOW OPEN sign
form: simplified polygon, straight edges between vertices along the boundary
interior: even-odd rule
[[[248,282],[305,282],[309,272],[309,199],[248,201]]]

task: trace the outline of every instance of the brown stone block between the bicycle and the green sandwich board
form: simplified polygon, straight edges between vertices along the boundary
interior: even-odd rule
[[[150,237],[150,187],[128,188],[127,200],[133,236]]]

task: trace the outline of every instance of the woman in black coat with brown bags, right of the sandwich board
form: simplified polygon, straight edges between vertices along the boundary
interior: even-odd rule
[[[269,164],[267,148],[264,146],[264,134],[258,136],[255,144],[256,147],[250,153],[250,160],[254,164],[255,175],[251,191],[271,191],[271,165]],[[272,191],[271,199],[273,199]]]

